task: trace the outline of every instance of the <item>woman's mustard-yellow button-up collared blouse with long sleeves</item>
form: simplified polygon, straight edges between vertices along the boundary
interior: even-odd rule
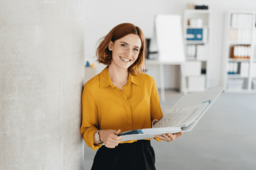
[[[133,76],[129,73],[128,82],[122,90],[114,86],[106,67],[85,83],[80,133],[92,150],[101,147],[101,144],[94,144],[94,133],[99,129],[121,129],[121,132],[126,132],[151,128],[152,120],[160,118],[162,118],[162,110],[157,86],[154,78],[147,74]],[[157,138],[157,141],[159,140],[161,139]]]

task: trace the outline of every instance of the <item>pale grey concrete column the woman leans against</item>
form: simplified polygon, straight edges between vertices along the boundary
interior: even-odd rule
[[[84,4],[0,1],[0,169],[83,169]]]

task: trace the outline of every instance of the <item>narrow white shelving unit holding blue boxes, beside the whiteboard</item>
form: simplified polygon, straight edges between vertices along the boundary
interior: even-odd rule
[[[189,62],[200,62],[201,64],[201,68],[200,70],[202,69],[205,69],[206,71],[206,74],[205,73],[202,73],[200,72],[201,74],[199,75],[195,75],[195,76],[191,76],[191,75],[186,75],[186,79],[188,82],[186,84],[186,88],[188,90],[188,92],[190,93],[195,93],[195,92],[198,92],[198,91],[204,91],[205,89],[208,89],[208,82],[209,82],[209,79],[207,77],[207,65],[209,64],[207,62],[207,58],[209,56],[209,42],[210,42],[210,29],[211,29],[211,20],[210,20],[210,17],[211,17],[211,12],[210,10],[205,10],[205,9],[186,9],[185,10],[185,13],[184,13],[184,17],[183,17],[183,38],[184,38],[184,47],[185,47],[185,54],[187,54],[187,49],[188,49],[188,45],[196,45],[195,48],[197,48],[197,45],[204,45],[204,47],[207,49],[205,49],[205,58],[204,59],[197,59],[197,52],[195,54],[195,57],[192,58],[192,57],[187,57],[186,56],[186,63],[189,63]],[[186,34],[187,34],[187,29],[188,28],[192,28],[192,29],[198,29],[197,26],[190,26],[188,25],[188,20],[190,19],[202,19],[202,26],[200,26],[200,28],[202,29],[207,29],[208,30],[208,35],[207,35],[207,41],[204,42],[204,41],[198,41],[198,40],[186,40]],[[189,70],[188,70],[189,71]],[[205,79],[204,82],[200,81],[200,79],[198,79],[198,77],[201,77],[203,79]],[[198,89],[195,89],[195,88],[191,88],[189,86],[189,83],[190,83],[190,80],[193,79],[193,82],[198,82],[198,86],[201,86],[201,87],[204,87],[204,88],[198,88]],[[196,81],[198,79],[198,81]],[[203,84],[202,84],[203,83]]]

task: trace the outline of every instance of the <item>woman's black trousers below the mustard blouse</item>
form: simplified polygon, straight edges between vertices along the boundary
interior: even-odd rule
[[[155,169],[155,152],[150,140],[118,144],[113,149],[102,146],[97,150],[92,169]]]

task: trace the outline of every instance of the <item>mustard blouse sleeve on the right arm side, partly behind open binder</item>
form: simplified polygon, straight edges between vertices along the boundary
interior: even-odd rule
[[[150,113],[151,113],[151,121],[155,119],[159,120],[162,118],[162,110],[161,110],[161,105],[159,101],[158,89],[155,84],[155,81],[154,81],[151,96],[150,96]],[[157,137],[155,137],[154,139],[156,139],[158,142],[162,140]]]

